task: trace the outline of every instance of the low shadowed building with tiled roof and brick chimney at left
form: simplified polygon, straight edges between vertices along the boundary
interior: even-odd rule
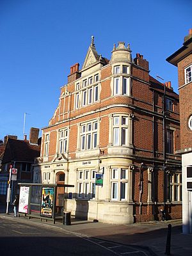
[[[18,182],[33,182],[32,164],[40,156],[39,129],[31,128],[29,140],[17,140],[17,136],[4,138],[4,152],[0,172],[0,200],[5,202],[10,166],[17,169],[17,180],[12,180],[12,198],[18,193]]]

